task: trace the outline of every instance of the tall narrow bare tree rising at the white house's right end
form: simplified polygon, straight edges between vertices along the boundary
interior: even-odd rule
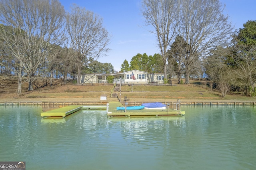
[[[154,28],[150,32],[156,34],[164,63],[164,78],[167,79],[167,48],[176,36],[179,0],[142,0],[142,14],[146,25]]]

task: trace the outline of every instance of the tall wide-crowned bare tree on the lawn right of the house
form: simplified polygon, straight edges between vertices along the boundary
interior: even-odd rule
[[[186,42],[184,64],[186,84],[199,57],[208,55],[218,45],[228,45],[232,27],[219,0],[182,1],[178,34]]]

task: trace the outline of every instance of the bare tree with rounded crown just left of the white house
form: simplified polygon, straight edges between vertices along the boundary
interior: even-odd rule
[[[77,5],[66,15],[66,31],[71,47],[76,51],[77,84],[80,84],[81,67],[110,50],[107,48],[110,36],[102,26],[102,18]]]

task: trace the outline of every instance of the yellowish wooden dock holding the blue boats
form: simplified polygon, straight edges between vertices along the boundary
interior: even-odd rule
[[[174,109],[142,109],[134,111],[117,111],[116,107],[123,107],[120,102],[110,102],[108,107],[108,117],[166,117],[166,116],[184,116],[185,111],[177,111]]]

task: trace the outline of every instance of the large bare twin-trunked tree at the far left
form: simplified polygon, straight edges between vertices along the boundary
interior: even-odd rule
[[[58,42],[61,33],[64,8],[58,0],[1,0],[0,21],[12,27],[12,32],[1,32],[0,37],[15,58],[14,71],[18,74],[18,95],[21,95],[22,79],[29,87],[45,62],[50,44]],[[4,30],[4,27],[2,27]]]

